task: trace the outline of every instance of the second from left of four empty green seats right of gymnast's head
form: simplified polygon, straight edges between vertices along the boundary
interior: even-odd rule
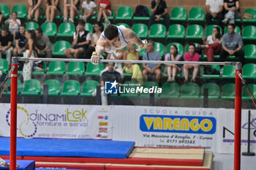
[[[150,27],[148,39],[164,39],[166,28],[161,23],[155,23]]]

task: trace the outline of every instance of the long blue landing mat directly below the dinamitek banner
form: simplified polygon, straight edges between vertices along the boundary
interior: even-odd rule
[[[19,156],[127,158],[135,142],[95,139],[17,139]],[[0,155],[10,154],[10,138],[0,137]]]

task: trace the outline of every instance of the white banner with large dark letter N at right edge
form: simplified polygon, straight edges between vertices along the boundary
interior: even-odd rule
[[[234,152],[235,110],[218,109],[218,150],[221,153]],[[256,110],[251,110],[250,149],[256,152]],[[241,152],[247,152],[248,110],[241,113]]]

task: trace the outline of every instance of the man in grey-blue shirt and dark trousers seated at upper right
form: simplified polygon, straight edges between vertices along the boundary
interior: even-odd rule
[[[230,23],[227,25],[228,32],[222,36],[222,49],[220,50],[220,59],[225,61],[228,55],[235,55],[240,58],[244,64],[243,39],[240,34],[235,33],[236,25]]]

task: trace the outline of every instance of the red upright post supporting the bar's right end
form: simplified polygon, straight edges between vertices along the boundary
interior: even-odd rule
[[[234,170],[241,169],[241,63],[236,63]]]

